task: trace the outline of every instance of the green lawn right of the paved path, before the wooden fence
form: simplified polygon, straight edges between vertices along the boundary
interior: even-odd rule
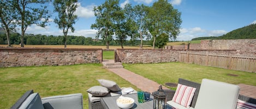
[[[183,78],[200,83],[203,78],[228,82],[230,84],[247,84],[256,86],[256,73],[216,67],[199,66],[180,62],[156,64],[123,64],[124,68],[142,75],[161,85],[166,82],[178,82]],[[230,74],[237,76],[230,76]]]

